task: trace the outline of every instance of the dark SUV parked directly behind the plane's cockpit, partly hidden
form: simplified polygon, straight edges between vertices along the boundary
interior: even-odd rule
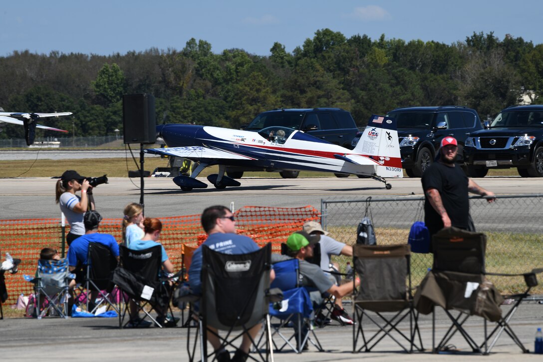
[[[299,129],[307,134],[326,140],[330,143],[351,148],[351,141],[355,138],[358,128],[351,114],[341,108],[302,108],[302,109],[274,109],[258,114],[244,130],[258,131],[266,127],[282,126]],[[226,174],[232,178],[241,178],[244,171],[263,171],[262,169],[247,167],[226,167]],[[296,178],[299,171],[280,171],[283,178]],[[336,174],[338,177],[348,177],[348,174]]]

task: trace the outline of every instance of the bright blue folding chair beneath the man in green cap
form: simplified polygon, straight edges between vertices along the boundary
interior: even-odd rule
[[[296,353],[302,353],[307,341],[322,352],[319,339],[311,328],[311,315],[313,305],[310,295],[306,288],[299,285],[299,261],[291,259],[281,261],[273,265],[275,279],[271,283],[271,288],[279,288],[283,292],[281,302],[270,303],[269,314],[280,320],[279,324],[271,324],[274,332],[271,335],[272,342],[277,351],[282,351],[287,345]],[[287,325],[293,323],[294,333],[288,337],[281,332],[281,329],[288,328]],[[279,335],[283,340],[283,345],[278,346],[273,340],[274,335]],[[313,335],[313,339],[311,338]],[[296,347],[292,344],[295,340]]]

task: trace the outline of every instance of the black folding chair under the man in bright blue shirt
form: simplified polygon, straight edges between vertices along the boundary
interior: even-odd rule
[[[111,296],[115,287],[111,279],[113,271],[117,267],[117,258],[113,256],[109,247],[98,242],[90,242],[87,263],[84,267],[85,277],[79,288],[79,296],[75,298],[75,301],[80,302],[79,306],[84,306],[84,309],[89,313],[95,313],[104,303],[119,313],[119,308],[116,303],[113,303]],[[91,301],[93,291],[98,292],[98,297],[97,300]]]

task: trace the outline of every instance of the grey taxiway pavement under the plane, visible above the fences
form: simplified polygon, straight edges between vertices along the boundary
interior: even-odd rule
[[[205,179],[202,179],[207,183]],[[0,219],[59,217],[54,202],[54,185],[50,178],[0,179]],[[144,203],[149,216],[179,216],[198,214],[212,204],[269,207],[300,207],[312,205],[320,210],[321,199],[364,199],[422,196],[420,179],[392,179],[392,190],[371,179],[355,177],[315,178],[243,178],[238,188],[181,191],[171,178],[146,178]],[[538,178],[488,177],[477,179],[484,188],[498,196],[541,193]],[[140,201],[140,179],[110,178],[109,184],[99,185],[94,192],[97,208],[104,217],[120,217],[124,205]]]

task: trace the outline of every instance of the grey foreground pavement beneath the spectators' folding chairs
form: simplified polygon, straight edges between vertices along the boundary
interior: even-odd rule
[[[504,309],[507,310],[507,306]],[[436,319],[436,338],[449,326],[442,311]],[[334,322],[335,323],[335,322]],[[369,322],[368,322],[369,323]],[[482,341],[482,319],[472,317],[468,322],[469,333]],[[489,324],[489,328],[494,324]],[[368,331],[375,331],[371,324],[364,324]],[[407,326],[407,324],[406,324]],[[543,326],[543,305],[521,305],[512,322],[514,332],[525,347],[533,351],[537,327]],[[402,327],[403,328],[403,327]],[[302,354],[275,353],[275,361],[541,361],[543,356],[523,354],[521,349],[504,333],[490,356],[467,354],[471,350],[459,335],[451,340],[460,352],[432,354],[431,316],[420,316],[420,329],[424,353],[407,354],[389,338],[383,339],[374,352],[352,353],[352,328],[338,324],[317,328],[315,332],[325,352],[315,347]],[[405,331],[405,329],[402,329]],[[17,361],[37,360],[175,360],[187,361],[187,330],[185,328],[118,329],[117,319],[4,319],[0,321],[0,359]],[[230,348],[231,349],[231,348]]]

